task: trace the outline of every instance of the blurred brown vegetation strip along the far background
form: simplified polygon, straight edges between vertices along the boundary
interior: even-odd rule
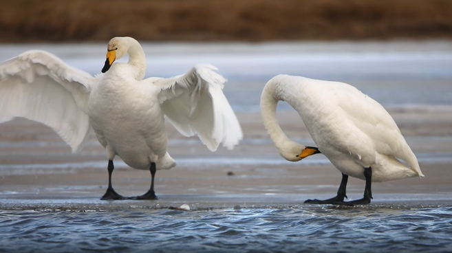
[[[0,0],[0,42],[452,38],[450,0]]]

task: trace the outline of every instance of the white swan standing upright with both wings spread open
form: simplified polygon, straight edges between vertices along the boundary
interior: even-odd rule
[[[128,63],[114,63],[129,54]],[[0,123],[28,118],[52,127],[72,147],[83,148],[89,130],[107,151],[109,186],[102,199],[122,199],[111,186],[113,159],[151,171],[151,188],[138,199],[156,199],[155,170],[175,166],[166,153],[164,115],[183,135],[197,134],[215,151],[242,138],[212,65],[196,65],[173,78],[143,79],[144,51],[130,37],[109,41],[107,61],[93,77],[43,51],[28,51],[0,64]]]

